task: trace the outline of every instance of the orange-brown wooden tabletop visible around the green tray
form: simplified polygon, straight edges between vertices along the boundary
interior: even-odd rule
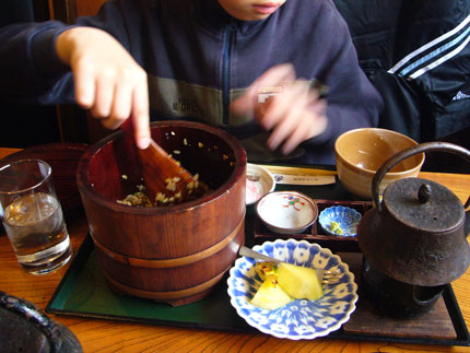
[[[15,152],[0,149],[0,158]],[[423,178],[450,188],[462,202],[470,192],[470,176],[421,173]],[[89,227],[84,216],[68,222],[72,247],[78,250]],[[0,290],[27,299],[44,311],[67,271],[35,276],[23,272],[7,236],[0,236]],[[467,326],[470,325],[470,270],[453,282],[453,289]],[[223,313],[221,313],[223,315]],[[48,315],[69,327],[84,352],[470,352],[467,346],[439,346],[368,341],[315,339],[281,340],[263,333],[237,333],[205,329],[130,323],[92,318]],[[0,349],[1,351],[1,349]]]

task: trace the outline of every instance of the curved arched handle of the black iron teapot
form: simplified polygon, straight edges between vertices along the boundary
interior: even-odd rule
[[[378,213],[381,212],[381,204],[379,199],[379,185],[384,176],[397,164],[399,164],[401,161],[407,160],[408,157],[411,157],[412,155],[427,152],[427,151],[443,151],[443,152],[449,152],[453,154],[460,155],[465,160],[467,160],[470,163],[470,151],[459,146],[454,143],[448,142],[425,142],[418,145],[414,145],[412,148],[408,148],[403,151],[398,152],[397,154],[392,155],[390,158],[385,161],[385,163],[378,168],[377,173],[375,174],[374,178],[372,179],[372,195],[374,204],[377,208]],[[467,209],[470,205],[470,197],[467,199],[467,202],[465,204],[465,209]]]

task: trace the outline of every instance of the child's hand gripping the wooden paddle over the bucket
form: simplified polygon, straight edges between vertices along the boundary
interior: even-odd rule
[[[129,52],[113,36],[92,27],[61,33],[56,49],[72,69],[77,103],[108,129],[132,117],[136,142],[145,149],[150,140],[146,73]]]

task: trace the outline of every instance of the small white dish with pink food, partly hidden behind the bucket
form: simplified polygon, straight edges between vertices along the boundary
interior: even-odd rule
[[[246,204],[258,202],[265,195],[275,188],[275,181],[269,170],[258,164],[248,163],[246,166]]]

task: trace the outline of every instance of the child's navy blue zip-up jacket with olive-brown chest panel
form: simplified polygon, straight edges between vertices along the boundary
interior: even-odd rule
[[[78,25],[115,36],[149,74],[153,119],[193,119],[236,136],[250,161],[283,158],[266,148],[269,132],[228,104],[274,64],[291,62],[299,78],[329,86],[327,130],[304,142],[292,163],[334,164],[336,138],[374,127],[381,98],[360,69],[348,26],[331,0],[287,0],[263,21],[243,22],[215,0],[118,0]],[[55,50],[59,22],[0,32],[0,95],[19,102],[73,102],[70,69]]]

